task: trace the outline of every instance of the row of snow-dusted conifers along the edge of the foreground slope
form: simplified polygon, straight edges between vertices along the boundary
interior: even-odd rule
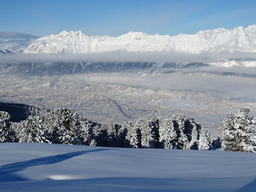
[[[222,139],[211,142],[207,128],[193,118],[176,114],[170,118],[144,118],[134,123],[95,123],[73,109],[30,115],[19,123],[0,112],[0,142],[47,142],[100,147],[165,148],[256,152],[256,118],[249,108],[229,113],[219,126]]]

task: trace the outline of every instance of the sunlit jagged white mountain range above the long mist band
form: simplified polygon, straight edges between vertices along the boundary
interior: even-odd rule
[[[256,53],[256,25],[217,28],[197,34],[149,35],[129,32],[119,37],[86,36],[82,31],[62,31],[35,40],[24,53],[186,52]]]

